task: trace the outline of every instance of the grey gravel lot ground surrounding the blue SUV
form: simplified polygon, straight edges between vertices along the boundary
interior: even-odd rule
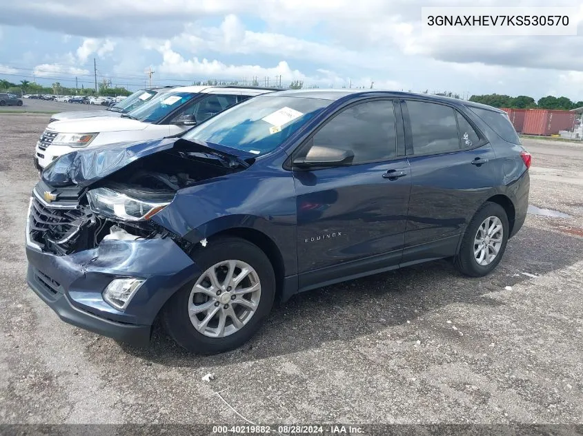
[[[255,423],[583,422],[583,145],[525,141],[531,204],[571,218],[529,215],[491,276],[439,261],[297,295],[199,357],[69,326],[26,286],[47,122],[0,115],[0,422],[245,424],[217,392]]]

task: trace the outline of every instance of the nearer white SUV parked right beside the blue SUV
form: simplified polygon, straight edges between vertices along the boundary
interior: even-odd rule
[[[146,141],[184,132],[197,123],[251,96],[273,92],[261,88],[185,86],[152,98],[120,118],[81,118],[50,123],[37,143],[41,168],[62,154],[82,147],[123,141]]]

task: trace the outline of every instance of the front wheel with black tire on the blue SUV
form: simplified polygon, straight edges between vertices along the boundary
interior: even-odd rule
[[[192,255],[203,273],[162,309],[162,324],[177,344],[200,354],[247,342],[273,307],[275,273],[266,254],[241,238],[210,240]]]

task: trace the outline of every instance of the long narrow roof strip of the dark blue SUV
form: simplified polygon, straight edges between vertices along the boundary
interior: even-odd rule
[[[431,101],[442,101],[446,103],[453,103],[455,105],[466,105],[471,107],[479,107],[482,109],[493,110],[495,112],[502,112],[503,110],[497,109],[496,107],[483,105],[482,103],[474,103],[473,101],[461,100],[460,98],[452,98],[446,96],[440,96],[435,94],[418,94],[415,92],[403,92],[394,90],[346,90],[346,89],[330,89],[330,90],[320,90],[318,88],[310,90],[285,90],[277,92],[278,97],[304,97],[304,98],[319,98],[321,100],[335,101],[346,96],[391,96],[397,98],[424,98]]]

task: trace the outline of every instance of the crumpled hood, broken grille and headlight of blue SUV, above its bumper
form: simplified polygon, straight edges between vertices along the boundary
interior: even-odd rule
[[[102,240],[172,238],[188,253],[190,242],[150,218],[180,189],[249,165],[250,160],[179,139],[68,154],[34,188],[28,244],[67,256]]]

